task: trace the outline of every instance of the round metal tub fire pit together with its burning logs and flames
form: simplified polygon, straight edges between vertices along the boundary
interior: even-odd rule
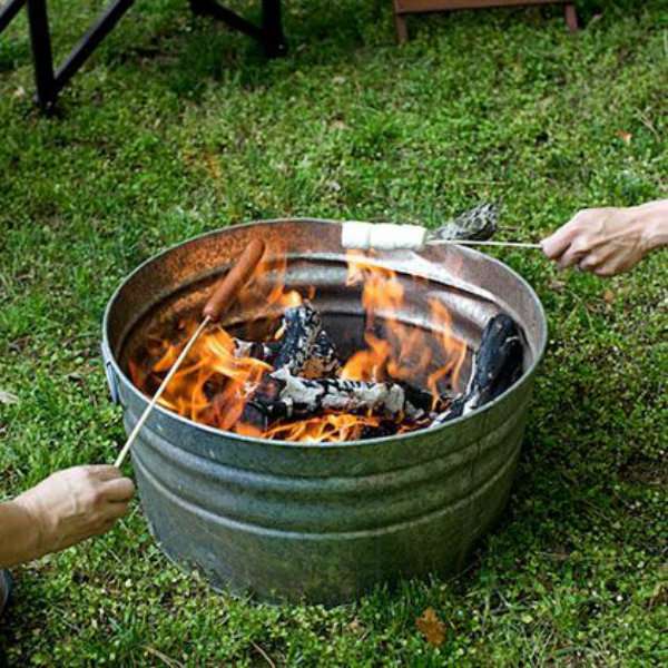
[[[137,385],[155,391],[213,284],[256,235],[268,248],[261,277],[194,350],[134,449],[160,547],[215,587],[272,600],[337,603],[401,577],[461,569],[503,509],[546,342],[534,293],[488,256],[444,246],[351,261],[341,226],[324,220],[257,223],[177,246],[140,266],[105,316],[102,352],[126,429],[147,404]],[[500,313],[519,326],[522,375],[462,407],[483,330]],[[289,320],[308,314],[320,324],[306,345]],[[226,361],[223,384],[212,350]],[[267,404],[279,350],[291,373],[272,377],[281,401]],[[374,394],[353,405],[346,394],[338,411],[318,403],[305,414],[301,395],[284,401],[286,377],[318,392],[382,383],[404,403]],[[252,399],[239,401],[249,386]]]

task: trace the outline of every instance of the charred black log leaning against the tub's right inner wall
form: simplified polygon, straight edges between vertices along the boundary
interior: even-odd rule
[[[462,396],[432,422],[432,426],[466,415],[500,396],[523,371],[523,346],[517,323],[504,313],[490,318],[473,357],[471,377]]]

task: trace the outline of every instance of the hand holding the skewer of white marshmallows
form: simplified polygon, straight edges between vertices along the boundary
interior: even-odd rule
[[[629,208],[583,209],[541,246],[561,268],[577,265],[599,276],[620,274],[660,245],[666,208],[666,202],[656,202]]]

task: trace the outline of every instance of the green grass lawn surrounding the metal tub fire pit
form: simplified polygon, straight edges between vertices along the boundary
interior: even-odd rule
[[[100,315],[169,244],[291,215],[435,225],[485,198],[529,240],[583,206],[665,196],[668,11],[603,4],[580,4],[576,36],[558,9],[421,17],[397,48],[389,0],[294,0],[291,55],[265,62],[185,2],[139,2],[55,119],[31,105],[16,21],[0,37],[0,389],[19,397],[0,405],[1,494],[112,461]],[[99,6],[49,3],[59,56]],[[666,254],[609,281],[500,256],[543,301],[550,344],[508,512],[466,573],[333,610],[262,606],[181,574],[135,504],[14,571],[7,660],[665,665]],[[415,628],[430,606],[439,649]]]

